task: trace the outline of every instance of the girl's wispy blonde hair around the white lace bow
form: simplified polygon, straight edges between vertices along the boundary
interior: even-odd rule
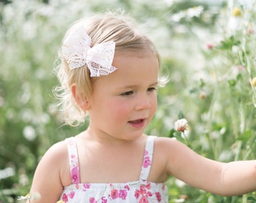
[[[84,26],[87,35],[92,40],[91,47],[99,43],[114,41],[115,53],[136,52],[144,54],[150,51],[157,56],[160,64],[160,56],[153,42],[139,32],[136,23],[132,19],[123,14],[96,14],[93,17],[78,20],[66,32],[66,36],[81,25]],[[57,105],[64,115],[66,124],[78,126],[84,122],[87,112],[84,112],[75,102],[70,87],[75,83],[78,96],[80,98],[90,98],[92,78],[87,65],[71,70],[66,59],[62,56],[61,49],[59,50],[59,59],[60,64],[56,67],[56,71],[60,85],[53,89],[53,93],[59,99]]]

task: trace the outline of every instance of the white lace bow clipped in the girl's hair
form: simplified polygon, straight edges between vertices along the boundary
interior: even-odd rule
[[[112,66],[114,59],[114,41],[107,41],[90,47],[91,38],[78,27],[71,32],[62,44],[62,54],[69,64],[70,69],[81,68],[87,65],[90,77],[108,75],[117,68]]]

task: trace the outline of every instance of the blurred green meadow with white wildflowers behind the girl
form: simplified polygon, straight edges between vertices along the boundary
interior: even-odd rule
[[[123,9],[162,56],[165,86],[147,134],[175,137],[222,162],[256,159],[256,1],[0,1],[0,203],[26,195],[41,156],[85,129],[63,126],[53,108],[53,73],[69,25]],[[179,119],[188,130],[176,132]],[[169,202],[256,202],[167,181]],[[22,201],[20,201],[22,202]]]

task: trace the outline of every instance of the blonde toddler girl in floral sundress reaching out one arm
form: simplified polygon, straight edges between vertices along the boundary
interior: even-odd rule
[[[218,195],[256,189],[256,161],[222,163],[172,138],[145,135],[157,109],[160,56],[131,20],[76,22],[59,50],[66,123],[84,132],[54,144],[39,163],[30,202],[168,202],[170,175]]]

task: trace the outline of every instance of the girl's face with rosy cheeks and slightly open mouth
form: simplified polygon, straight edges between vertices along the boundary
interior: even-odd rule
[[[93,81],[90,129],[133,140],[142,135],[157,109],[158,60],[152,53],[116,54],[113,65],[116,71]]]

